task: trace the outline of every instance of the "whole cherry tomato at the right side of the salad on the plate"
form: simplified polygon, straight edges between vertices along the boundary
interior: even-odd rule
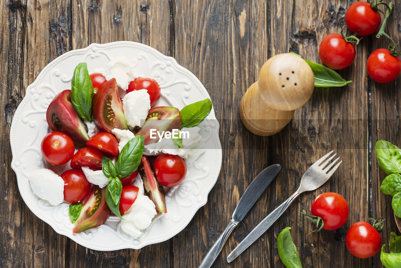
[[[163,154],[154,160],[153,172],[160,184],[173,187],[184,180],[186,164],[178,155]]]

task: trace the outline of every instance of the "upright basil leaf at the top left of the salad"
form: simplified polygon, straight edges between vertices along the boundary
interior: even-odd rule
[[[75,67],[71,80],[71,103],[79,117],[87,122],[93,121],[92,116],[93,85],[85,62]]]

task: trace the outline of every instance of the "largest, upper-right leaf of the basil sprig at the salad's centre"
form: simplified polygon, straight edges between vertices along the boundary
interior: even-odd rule
[[[124,145],[115,163],[115,170],[118,178],[130,176],[137,170],[141,162],[142,154],[144,153],[144,144],[144,135],[138,135],[130,139],[127,144]]]

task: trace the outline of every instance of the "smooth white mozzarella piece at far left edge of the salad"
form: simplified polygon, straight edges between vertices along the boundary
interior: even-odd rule
[[[64,180],[47,168],[32,172],[28,178],[32,192],[52,206],[63,203]]]

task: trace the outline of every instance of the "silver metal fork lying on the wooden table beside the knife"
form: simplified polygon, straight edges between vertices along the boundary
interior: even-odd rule
[[[239,245],[227,256],[227,262],[232,262],[235,258],[239,256],[244,250],[246,250],[256,239],[258,239],[277,219],[286,211],[286,209],[291,205],[292,201],[295,200],[300,194],[307,191],[313,191],[322,186],[330,177],[333,175],[334,171],[340,166],[342,161],[336,160],[329,162],[336,156],[330,156],[333,151],[324,155],[322,158],[318,159],[312,166],[310,166],[301,179],[301,184],[298,190],[294,192],[290,198],[288,198],[284,203],[279,205],[275,210],[273,210],[265,219],[263,219],[248,235],[245,237]],[[328,158],[324,163],[323,161]],[[322,164],[323,163],[323,164]],[[334,164],[336,164],[334,166]],[[333,167],[334,166],[334,167]]]

